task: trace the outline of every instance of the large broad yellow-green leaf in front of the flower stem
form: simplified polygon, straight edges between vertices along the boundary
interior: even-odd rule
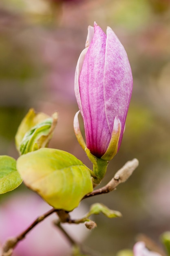
[[[62,150],[41,148],[22,155],[17,169],[26,186],[55,209],[72,211],[84,195],[93,191],[90,170]]]

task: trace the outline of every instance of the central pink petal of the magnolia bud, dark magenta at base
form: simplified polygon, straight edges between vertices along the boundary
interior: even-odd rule
[[[79,76],[79,92],[87,147],[93,155],[101,157],[106,152],[111,138],[103,92],[106,34],[98,25],[95,25],[94,29],[95,34]]]

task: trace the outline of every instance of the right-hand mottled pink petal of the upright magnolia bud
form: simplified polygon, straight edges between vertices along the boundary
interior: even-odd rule
[[[104,99],[106,119],[110,131],[113,129],[113,117],[118,115],[121,121],[119,150],[132,94],[132,72],[126,51],[110,27],[107,28],[105,59]]]

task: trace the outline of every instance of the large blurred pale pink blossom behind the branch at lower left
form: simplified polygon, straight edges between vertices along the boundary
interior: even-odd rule
[[[7,238],[18,236],[24,231],[38,216],[51,207],[46,204],[36,194],[18,193],[13,195],[0,206],[0,245]],[[72,218],[83,216],[87,210],[83,205],[73,211]],[[76,213],[77,212],[77,213]],[[53,215],[40,222],[25,239],[15,247],[13,256],[65,256],[71,250],[66,237],[52,223],[57,215]],[[89,233],[84,225],[68,225],[63,227],[78,242],[81,242]]]

